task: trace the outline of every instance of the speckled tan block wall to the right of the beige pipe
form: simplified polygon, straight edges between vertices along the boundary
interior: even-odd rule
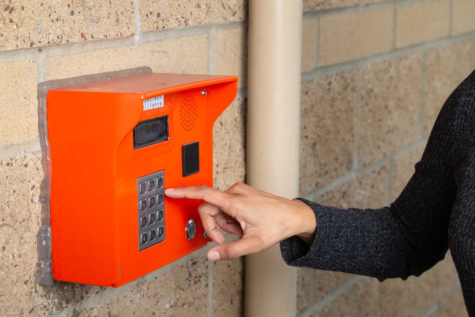
[[[345,208],[398,197],[475,68],[474,17],[471,0],[304,0],[301,195]],[[301,317],[467,316],[450,252],[406,281],[297,274]]]

